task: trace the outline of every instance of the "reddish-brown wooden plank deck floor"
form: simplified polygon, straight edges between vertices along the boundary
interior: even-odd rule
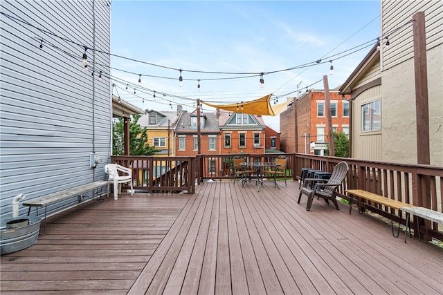
[[[306,198],[298,182],[206,182],[48,218],[1,256],[1,294],[442,294],[443,249]]]

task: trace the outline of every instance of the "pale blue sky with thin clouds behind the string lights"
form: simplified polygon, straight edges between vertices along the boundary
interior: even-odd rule
[[[156,111],[178,104],[194,111],[197,98],[231,104],[270,93],[271,104],[280,104],[323,89],[325,75],[329,89],[343,84],[377,42],[380,22],[375,0],[113,0],[113,93]],[[278,115],[264,122],[280,131]]]

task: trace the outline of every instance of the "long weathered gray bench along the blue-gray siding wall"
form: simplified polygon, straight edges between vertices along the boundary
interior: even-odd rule
[[[93,191],[93,189],[98,189],[100,187],[107,186],[107,198],[109,198],[109,184],[112,182],[106,180],[100,180],[96,182],[91,182],[87,184],[82,184],[78,187],[73,187],[71,189],[65,189],[64,191],[57,191],[57,193],[51,193],[46,196],[42,196],[39,198],[34,198],[23,202],[24,206],[28,206],[28,216],[30,214],[30,209],[35,207],[37,211],[37,216],[39,215],[39,207],[44,207],[44,231],[46,230],[46,207],[51,204],[55,204],[56,202],[62,202],[69,198],[78,196],[78,202],[82,201],[82,195],[89,191]],[[44,231],[42,234],[44,234]]]

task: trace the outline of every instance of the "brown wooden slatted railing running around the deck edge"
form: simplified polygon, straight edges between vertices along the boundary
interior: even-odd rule
[[[195,184],[207,180],[233,180],[232,158],[241,156],[245,161],[269,162],[281,153],[274,154],[225,154],[198,155],[197,157],[143,157],[112,156],[111,162],[132,167],[134,189],[165,193],[195,193]],[[395,164],[364,161],[349,158],[323,157],[300,153],[285,153],[287,179],[300,180],[302,168],[314,168],[331,172],[343,160],[350,171],[338,189],[338,196],[350,200],[346,189],[364,189],[392,200],[426,207],[442,212],[443,167],[417,164]],[[148,177],[148,175],[151,175]],[[364,209],[390,218],[389,209],[377,204],[363,204]],[[394,220],[404,223],[404,216],[396,213]],[[403,217],[403,218],[401,218]],[[420,231],[443,240],[435,222],[419,220]],[[413,225],[414,226],[414,225]]]

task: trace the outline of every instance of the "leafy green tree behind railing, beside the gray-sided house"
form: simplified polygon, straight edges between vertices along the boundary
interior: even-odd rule
[[[154,155],[159,150],[147,144],[147,129],[137,123],[141,115],[132,115],[129,122],[129,153],[130,155]],[[118,119],[112,126],[112,154],[124,155],[123,118]]]

